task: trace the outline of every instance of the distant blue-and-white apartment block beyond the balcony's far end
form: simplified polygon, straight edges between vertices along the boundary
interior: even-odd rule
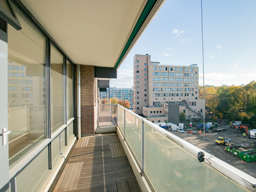
[[[133,108],[133,90],[132,88],[109,88],[106,92],[100,92],[100,99],[113,98],[128,100]]]

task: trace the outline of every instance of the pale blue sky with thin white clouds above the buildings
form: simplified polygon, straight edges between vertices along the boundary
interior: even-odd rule
[[[256,1],[203,0],[205,84],[256,80]],[[200,0],[166,0],[117,71],[111,87],[132,88],[135,54],[162,65],[198,64],[203,84]]]

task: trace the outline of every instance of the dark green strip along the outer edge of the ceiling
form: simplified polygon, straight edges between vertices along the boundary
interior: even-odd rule
[[[135,36],[137,35],[138,31],[140,30],[141,26],[143,25],[144,21],[147,19],[148,14],[151,12],[152,8],[154,7],[154,4],[156,3],[157,0],[148,0],[145,8],[143,9],[143,12],[140,15],[140,18],[138,19],[138,22],[136,23],[136,26],[134,27],[134,29],[132,30],[132,34],[129,37],[124,50],[122,51],[120,58],[118,59],[118,61],[116,62],[115,65],[115,69],[118,67],[118,65],[120,65],[120,61],[122,60],[122,58],[124,57],[125,52],[127,51],[127,49],[130,47],[132,41],[134,40]]]

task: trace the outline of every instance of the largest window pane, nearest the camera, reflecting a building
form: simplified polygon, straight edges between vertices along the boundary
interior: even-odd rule
[[[17,163],[46,138],[45,38],[18,11],[22,29],[8,27],[9,164]],[[22,69],[21,76],[15,75]],[[20,81],[21,80],[21,81]],[[20,82],[33,82],[19,87]],[[15,88],[17,86],[17,88]],[[30,95],[30,97],[29,97]]]

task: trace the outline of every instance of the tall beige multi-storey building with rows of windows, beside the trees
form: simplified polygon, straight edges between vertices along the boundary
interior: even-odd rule
[[[134,111],[143,114],[143,106],[179,104],[186,117],[200,118],[205,100],[199,99],[198,66],[161,65],[150,55],[136,54],[134,68]]]

